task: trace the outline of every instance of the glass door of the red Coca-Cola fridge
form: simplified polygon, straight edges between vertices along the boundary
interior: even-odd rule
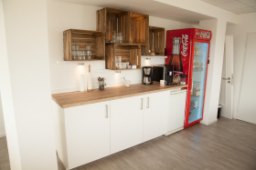
[[[195,42],[188,124],[202,118],[207,64],[208,43]]]

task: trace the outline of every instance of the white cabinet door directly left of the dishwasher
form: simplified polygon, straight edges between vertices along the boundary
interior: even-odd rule
[[[169,91],[144,95],[144,142],[167,133]]]

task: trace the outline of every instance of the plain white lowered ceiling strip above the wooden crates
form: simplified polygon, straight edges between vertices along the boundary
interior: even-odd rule
[[[208,15],[201,15],[172,5],[155,2],[154,0],[54,0],[79,5],[99,7],[115,7],[132,10],[147,15],[174,20],[191,25],[199,24],[200,20],[213,19]]]

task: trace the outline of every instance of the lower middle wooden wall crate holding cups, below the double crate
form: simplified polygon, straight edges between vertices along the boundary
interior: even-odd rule
[[[116,56],[122,56],[122,62],[129,62],[129,65],[137,65],[136,69],[141,69],[141,45],[116,43],[106,44],[106,69],[128,70],[118,69],[116,67]]]

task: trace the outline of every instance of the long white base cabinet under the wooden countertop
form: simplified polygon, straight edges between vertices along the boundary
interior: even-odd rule
[[[168,90],[69,108],[53,102],[59,158],[72,169],[165,135],[183,125],[185,101]]]

